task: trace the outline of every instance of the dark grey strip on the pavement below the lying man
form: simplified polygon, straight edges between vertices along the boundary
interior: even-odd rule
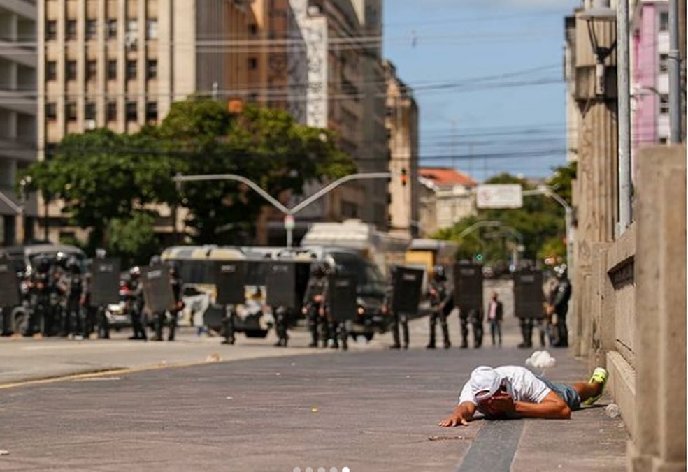
[[[511,469],[523,420],[485,420],[457,472],[508,472]]]

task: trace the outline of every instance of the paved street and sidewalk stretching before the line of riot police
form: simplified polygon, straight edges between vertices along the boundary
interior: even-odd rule
[[[508,314],[508,285],[497,288]],[[454,344],[457,324],[452,317]],[[486,338],[480,350],[427,351],[422,318],[409,351],[387,350],[386,334],[348,353],[303,348],[305,332],[287,349],[271,346],[273,334],[221,346],[186,330],[172,344],[3,339],[0,449],[9,455],[0,470],[624,470],[625,429],[603,408],[571,420],[436,426],[475,366],[530,355],[513,347],[510,317],[506,331],[503,348]],[[566,351],[552,355],[550,378],[587,378]],[[115,367],[123,370],[21,382]]]

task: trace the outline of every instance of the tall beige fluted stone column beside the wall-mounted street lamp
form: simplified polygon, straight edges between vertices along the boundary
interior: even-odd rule
[[[611,45],[613,24],[599,24],[600,45]],[[595,64],[587,23],[576,17],[573,48],[575,79],[573,96],[580,110],[578,120],[578,175],[573,207],[578,225],[575,230],[573,309],[569,328],[571,347],[576,355],[587,355],[592,318],[590,297],[594,293],[593,246],[612,242],[617,220],[617,119],[616,56],[605,59],[606,94],[595,94]]]

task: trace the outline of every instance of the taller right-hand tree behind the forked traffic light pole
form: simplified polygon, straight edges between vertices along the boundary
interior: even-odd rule
[[[255,105],[230,115],[212,101],[175,103],[158,134],[162,145],[174,151],[177,172],[242,175],[275,197],[298,195],[306,182],[355,171],[331,131],[301,126],[287,112]],[[268,205],[233,181],[187,183],[180,196],[189,209],[187,226],[200,244],[241,242],[255,231]]]

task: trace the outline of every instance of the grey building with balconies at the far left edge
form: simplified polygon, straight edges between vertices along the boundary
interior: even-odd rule
[[[37,15],[35,1],[0,0],[0,246],[33,237],[24,217],[31,228],[36,202],[15,181],[36,160]]]

